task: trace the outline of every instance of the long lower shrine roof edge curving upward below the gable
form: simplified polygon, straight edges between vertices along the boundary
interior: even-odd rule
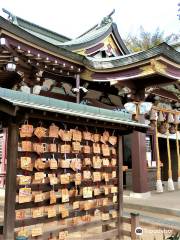
[[[103,29],[107,29],[107,26],[110,26],[111,23],[105,25],[102,27]],[[84,65],[87,68],[91,68],[94,71],[98,70],[114,70],[114,68],[123,67],[127,65],[131,65],[133,63],[138,63],[144,60],[148,60],[151,58],[154,58],[156,56],[164,56],[167,59],[172,60],[173,62],[180,64],[180,52],[177,52],[173,49],[173,47],[169,46],[166,43],[162,43],[156,47],[153,47],[146,51],[137,52],[134,54],[126,54],[119,57],[109,57],[106,59],[101,58],[87,58],[85,56],[79,55],[75,52],[72,52],[69,48],[65,49],[65,45],[59,45],[55,46],[52,43],[49,43],[45,40],[42,40],[24,29],[18,27],[15,24],[12,24],[11,22],[7,21],[6,19],[0,17],[0,29],[5,29],[11,34],[14,34],[16,36],[20,36],[21,38],[25,39],[26,41],[36,44],[38,46],[41,46],[42,48],[45,48],[47,50],[50,50],[56,54],[59,54],[61,56],[67,57],[68,59],[72,59],[76,62],[78,62],[81,65]],[[100,30],[98,30],[100,31]],[[90,33],[87,33],[89,35]],[[92,33],[91,33],[92,34]],[[91,36],[89,35],[89,38]],[[98,34],[97,34],[98,35]],[[87,36],[86,36],[87,37]],[[82,36],[82,38],[86,38],[85,35]]]

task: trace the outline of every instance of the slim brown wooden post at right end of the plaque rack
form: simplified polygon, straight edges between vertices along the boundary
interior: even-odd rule
[[[122,212],[123,212],[123,142],[122,136],[118,137],[118,239],[123,239]]]

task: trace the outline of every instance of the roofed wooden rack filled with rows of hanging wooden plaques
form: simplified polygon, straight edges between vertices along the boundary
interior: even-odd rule
[[[147,126],[124,112],[3,88],[0,96],[8,128],[4,239],[66,239],[82,224],[108,221],[115,225],[103,239],[120,239],[122,136]]]

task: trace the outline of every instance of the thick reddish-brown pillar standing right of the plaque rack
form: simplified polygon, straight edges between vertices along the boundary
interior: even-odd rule
[[[148,192],[146,135],[134,131],[132,133],[132,189],[135,193]]]

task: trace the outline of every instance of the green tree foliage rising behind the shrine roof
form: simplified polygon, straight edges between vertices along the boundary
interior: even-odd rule
[[[132,52],[139,52],[157,46],[162,42],[169,43],[175,41],[178,38],[179,36],[175,34],[165,37],[164,32],[159,28],[157,28],[154,33],[147,32],[141,26],[139,28],[139,35],[129,35],[124,42]]]

